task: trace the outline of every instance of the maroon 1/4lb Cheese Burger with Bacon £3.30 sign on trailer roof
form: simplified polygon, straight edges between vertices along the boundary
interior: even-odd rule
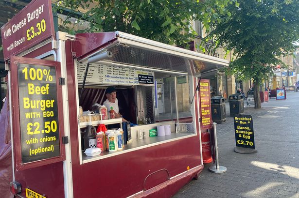
[[[4,60],[54,38],[51,0],[33,0],[1,28]]]

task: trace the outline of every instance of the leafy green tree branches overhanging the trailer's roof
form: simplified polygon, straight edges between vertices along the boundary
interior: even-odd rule
[[[88,21],[85,32],[123,31],[158,42],[181,46],[194,38],[193,20],[204,25],[218,17],[217,12],[229,14],[226,6],[231,0],[59,0],[57,10],[70,9]],[[83,8],[85,13],[78,13]],[[66,20],[65,24],[70,23]],[[64,25],[64,27],[66,27]],[[72,31],[70,29],[69,31]]]

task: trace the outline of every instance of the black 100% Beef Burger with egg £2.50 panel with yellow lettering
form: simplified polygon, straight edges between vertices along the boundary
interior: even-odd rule
[[[60,156],[56,70],[18,64],[22,163]]]

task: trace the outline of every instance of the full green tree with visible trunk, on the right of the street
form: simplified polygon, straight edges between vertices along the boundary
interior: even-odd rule
[[[255,108],[261,108],[259,85],[273,75],[278,57],[292,54],[299,39],[299,0],[237,0],[229,15],[209,23],[206,39],[233,50],[229,70],[241,79],[253,78]]]

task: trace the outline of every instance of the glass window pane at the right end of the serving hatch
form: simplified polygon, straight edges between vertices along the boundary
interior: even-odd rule
[[[156,79],[155,120],[193,122],[190,106],[189,76]]]

